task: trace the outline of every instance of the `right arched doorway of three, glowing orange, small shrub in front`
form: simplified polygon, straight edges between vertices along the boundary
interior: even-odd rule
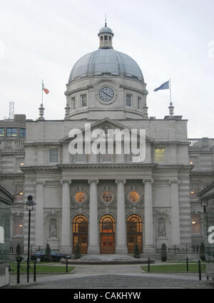
[[[142,220],[138,215],[131,215],[127,220],[127,246],[128,254],[134,253],[135,245],[138,245],[138,250],[143,253],[143,234]]]

